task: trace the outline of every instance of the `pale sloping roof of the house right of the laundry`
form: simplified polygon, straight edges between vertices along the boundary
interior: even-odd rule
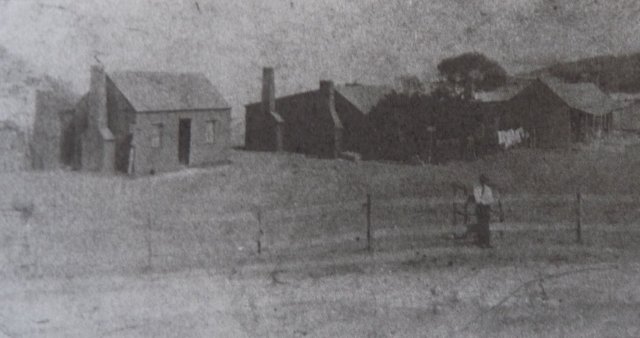
[[[557,78],[540,78],[568,106],[592,115],[604,115],[623,105],[610,98],[593,83],[566,83]]]

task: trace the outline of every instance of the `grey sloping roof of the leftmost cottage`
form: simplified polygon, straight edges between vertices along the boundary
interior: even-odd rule
[[[109,73],[108,77],[138,112],[230,107],[201,73],[135,71]]]

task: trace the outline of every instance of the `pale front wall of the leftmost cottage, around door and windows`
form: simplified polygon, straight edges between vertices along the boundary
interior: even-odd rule
[[[191,119],[191,146],[189,166],[224,161],[228,156],[231,133],[231,110],[202,110],[180,112],[138,112],[132,126],[135,148],[135,174],[149,174],[180,169],[178,159],[178,132],[180,119]],[[215,139],[207,143],[206,122],[216,121]],[[161,145],[152,147],[155,125],[162,124]]]

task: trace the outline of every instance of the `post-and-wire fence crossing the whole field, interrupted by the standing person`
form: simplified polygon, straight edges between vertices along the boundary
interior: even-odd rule
[[[491,224],[498,247],[640,244],[640,196],[521,194],[500,201],[503,221],[497,214]],[[465,202],[464,194],[454,193],[442,198],[364,194],[329,204],[254,205],[227,214],[147,213],[109,226],[54,224],[7,211],[0,229],[0,273],[233,269],[248,260],[287,255],[449,248],[459,244],[451,235],[475,222],[472,208],[464,211]]]

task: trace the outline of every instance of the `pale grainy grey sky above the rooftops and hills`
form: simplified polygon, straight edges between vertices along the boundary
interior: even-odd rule
[[[82,93],[89,66],[204,72],[232,103],[337,83],[434,78],[478,51],[510,73],[640,51],[636,0],[0,0],[0,45]]]

